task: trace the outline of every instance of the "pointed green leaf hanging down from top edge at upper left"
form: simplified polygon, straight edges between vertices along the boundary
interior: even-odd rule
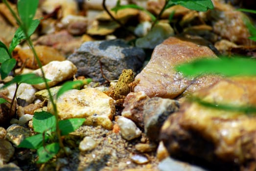
[[[39,0],[18,0],[17,7],[20,15],[23,31],[27,32],[36,14]]]

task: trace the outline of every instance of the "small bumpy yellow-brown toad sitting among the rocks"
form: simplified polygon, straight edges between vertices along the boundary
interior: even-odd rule
[[[116,100],[117,106],[122,106],[126,95],[132,91],[133,86],[137,85],[138,82],[139,80],[134,81],[134,74],[131,69],[124,69],[115,87],[110,87],[105,93]]]

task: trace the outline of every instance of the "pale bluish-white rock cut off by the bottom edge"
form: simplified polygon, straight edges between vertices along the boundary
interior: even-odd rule
[[[190,165],[186,162],[175,160],[171,157],[165,158],[158,165],[160,171],[207,171],[198,166]]]

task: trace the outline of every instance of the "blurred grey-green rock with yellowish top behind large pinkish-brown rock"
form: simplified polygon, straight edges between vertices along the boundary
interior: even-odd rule
[[[147,49],[154,49],[156,45],[162,43],[165,39],[174,35],[174,30],[167,22],[156,24],[146,36],[137,39],[136,46]]]

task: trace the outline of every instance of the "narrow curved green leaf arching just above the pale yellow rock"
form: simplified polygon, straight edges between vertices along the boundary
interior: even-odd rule
[[[68,81],[64,83],[59,91],[56,94],[56,99],[58,99],[63,93],[70,89],[79,89],[82,85],[89,84],[92,79],[85,79],[85,80],[77,80],[77,81]]]

